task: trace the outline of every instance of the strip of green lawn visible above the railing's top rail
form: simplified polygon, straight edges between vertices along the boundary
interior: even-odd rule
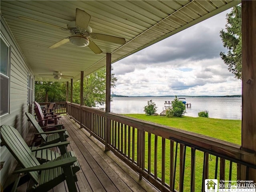
[[[149,116],[145,114],[126,114],[125,116],[203,134],[239,145],[241,144],[241,120],[188,116],[168,118],[165,116]]]

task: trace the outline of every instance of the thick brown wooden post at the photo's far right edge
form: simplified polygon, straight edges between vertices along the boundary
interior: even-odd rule
[[[242,1],[242,149],[256,152],[256,1]],[[256,158],[242,155],[256,164]],[[246,168],[242,167],[245,180]],[[256,182],[256,170],[249,168],[248,180]]]

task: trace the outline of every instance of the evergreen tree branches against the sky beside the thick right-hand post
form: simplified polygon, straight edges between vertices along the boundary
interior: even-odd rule
[[[228,53],[220,52],[220,57],[228,70],[238,79],[242,79],[242,11],[241,6],[234,6],[226,15],[226,31],[220,31],[223,46]]]

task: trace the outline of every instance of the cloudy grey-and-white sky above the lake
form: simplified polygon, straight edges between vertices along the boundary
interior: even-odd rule
[[[219,36],[226,10],[114,64],[111,91],[123,96],[236,95],[242,81],[220,58],[227,52]]]

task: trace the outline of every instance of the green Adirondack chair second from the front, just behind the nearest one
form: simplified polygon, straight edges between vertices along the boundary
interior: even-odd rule
[[[44,132],[44,130],[41,128],[41,126],[38,124],[38,122],[35,120],[32,114],[28,112],[26,112],[25,114],[28,117],[28,121],[31,122],[31,124],[38,132],[34,136],[34,139],[32,141],[33,143],[36,142],[36,139],[39,135],[42,138],[40,146],[57,143],[60,141],[63,142],[66,141],[66,138],[68,138],[68,132],[66,131],[66,129],[62,129],[62,124],[55,125],[58,130]]]

